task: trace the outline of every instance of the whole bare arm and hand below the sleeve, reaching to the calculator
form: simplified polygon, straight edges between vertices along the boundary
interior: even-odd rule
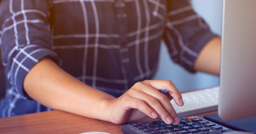
[[[25,76],[26,93],[41,104],[76,115],[124,123],[161,117],[166,123],[178,124],[170,99],[182,106],[182,96],[170,80],[137,82],[119,98],[94,89],[63,71],[48,58],[41,59]],[[158,90],[166,89],[168,95]]]

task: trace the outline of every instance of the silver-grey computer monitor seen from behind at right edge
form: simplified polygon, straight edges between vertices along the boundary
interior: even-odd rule
[[[218,114],[256,116],[256,0],[224,0]]]

